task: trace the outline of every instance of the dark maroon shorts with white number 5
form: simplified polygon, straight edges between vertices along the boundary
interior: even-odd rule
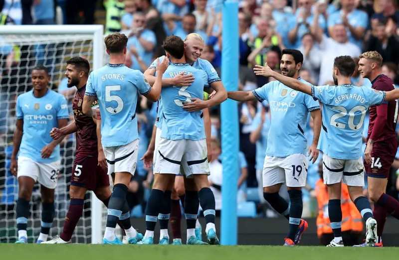
[[[76,158],[72,168],[71,185],[95,190],[109,186],[109,177],[99,165],[96,157]]]

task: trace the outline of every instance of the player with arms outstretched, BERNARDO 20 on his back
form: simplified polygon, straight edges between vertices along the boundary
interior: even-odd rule
[[[366,246],[377,242],[377,221],[369,200],[363,196],[364,167],[362,161],[362,127],[370,106],[387,103],[399,97],[397,90],[379,91],[351,84],[356,64],[350,56],[334,60],[333,79],[336,86],[312,86],[256,66],[256,75],[273,77],[286,86],[306,93],[323,104],[323,131],[319,148],[323,151],[323,179],[329,192],[328,215],[334,240],[330,247],[343,247],[341,237],[341,182],[348,185],[352,201],[366,222]],[[361,69],[361,68],[360,68]],[[361,69],[362,70],[362,69]],[[355,121],[355,117],[358,119]],[[366,157],[367,159],[367,157]]]

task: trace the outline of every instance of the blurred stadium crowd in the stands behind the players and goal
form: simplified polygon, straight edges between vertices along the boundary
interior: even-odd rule
[[[105,33],[120,31],[128,36],[126,66],[144,72],[156,57],[163,55],[161,44],[166,36],[177,35],[185,39],[189,33],[196,32],[206,43],[201,58],[208,60],[222,78],[221,4],[219,0],[104,0],[101,7],[106,10]],[[3,6],[0,23],[5,26],[93,24],[95,10],[99,5],[101,3],[96,0],[0,0],[0,7]],[[398,7],[397,0],[240,0],[238,89],[250,91],[274,80],[255,76],[252,68],[267,62],[268,66],[279,71],[281,51],[284,48],[298,49],[303,53],[300,77],[319,85],[334,84],[331,68],[336,56],[350,55],[358,58],[362,52],[376,50],[384,59],[383,73],[394,80],[395,87],[399,87]],[[12,50],[0,49],[0,60],[4,61],[2,71],[12,69],[12,56]],[[363,79],[357,69],[352,76],[352,83],[371,87],[371,82]],[[75,90],[66,88],[65,80],[54,83],[53,89],[57,89],[71,104]],[[141,158],[151,138],[157,106],[145,98],[141,98],[138,104]],[[209,181],[215,195],[216,210],[220,210],[222,164],[219,160],[220,117],[217,107],[212,108],[210,117],[212,160],[209,164]],[[277,217],[263,199],[262,185],[259,183],[270,126],[267,102],[240,103],[239,123],[239,215]],[[313,137],[312,127],[310,118],[304,130],[309,145]],[[367,137],[367,129],[368,116],[365,120],[364,139]],[[399,132],[399,128],[397,130]],[[72,145],[72,142],[65,145]],[[325,198],[325,187],[320,181],[321,157],[309,165],[306,191],[303,192],[303,216],[319,216],[320,227],[328,222],[328,217],[323,217],[323,208],[328,198]],[[0,173],[3,174],[5,172]],[[131,187],[140,194],[143,206],[151,188],[152,177],[152,169],[138,161],[137,176]],[[387,187],[387,193],[397,199],[398,177],[399,153],[392,165]],[[284,190],[280,194],[287,197]],[[251,210],[252,205],[256,205],[255,211]],[[350,207],[348,205],[344,214],[353,219],[360,218],[359,213],[351,215]],[[348,229],[361,231],[355,224]],[[331,229],[320,228],[318,235],[322,237],[322,234],[331,232]]]

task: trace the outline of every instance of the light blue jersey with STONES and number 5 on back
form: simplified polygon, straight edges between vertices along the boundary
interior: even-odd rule
[[[108,64],[90,74],[85,95],[98,99],[104,147],[125,145],[139,138],[137,99],[139,93],[146,95],[150,91],[143,73],[123,64]]]

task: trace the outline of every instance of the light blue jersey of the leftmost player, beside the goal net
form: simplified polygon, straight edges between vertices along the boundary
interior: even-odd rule
[[[64,96],[52,90],[36,98],[33,90],[19,95],[16,99],[16,118],[23,120],[23,135],[19,146],[19,156],[31,158],[40,163],[50,163],[60,159],[59,145],[50,157],[43,159],[41,150],[53,139],[52,128],[58,128],[58,119],[68,119],[68,105]]]

